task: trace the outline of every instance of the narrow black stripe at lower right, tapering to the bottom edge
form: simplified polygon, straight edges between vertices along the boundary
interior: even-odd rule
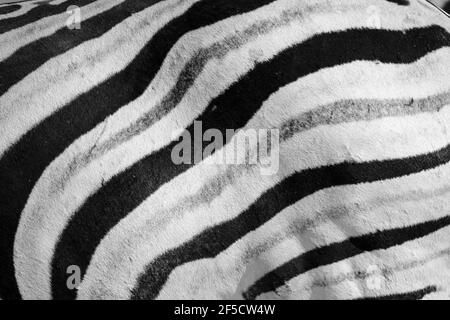
[[[450,225],[450,216],[415,226],[378,231],[349,238],[339,243],[308,251],[276,268],[256,281],[244,294],[245,299],[274,291],[287,281],[312,269],[329,265],[368,251],[388,249],[405,242],[422,238]]]

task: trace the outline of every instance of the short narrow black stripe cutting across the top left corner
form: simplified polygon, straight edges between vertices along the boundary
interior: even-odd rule
[[[71,5],[82,7],[94,1],[95,0],[73,0],[70,1],[69,4],[63,2],[59,5],[49,5],[48,3],[41,2],[36,8],[31,9],[21,16],[0,20],[0,34],[23,27],[45,17],[66,12],[67,8]]]

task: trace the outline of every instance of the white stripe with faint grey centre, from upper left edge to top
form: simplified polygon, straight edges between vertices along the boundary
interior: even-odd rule
[[[199,0],[160,2],[50,59],[0,97],[0,156],[30,128],[124,69],[167,22]],[[133,37],[129,35],[133,34]]]

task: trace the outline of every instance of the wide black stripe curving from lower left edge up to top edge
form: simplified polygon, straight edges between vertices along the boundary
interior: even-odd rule
[[[272,1],[204,0],[196,3],[161,29],[122,72],[58,110],[5,153],[0,160],[0,181],[7,186],[0,188],[1,296],[20,298],[12,260],[14,235],[20,212],[44,169],[76,138],[139,97],[168,51],[185,33]],[[115,200],[118,201],[120,199]]]

